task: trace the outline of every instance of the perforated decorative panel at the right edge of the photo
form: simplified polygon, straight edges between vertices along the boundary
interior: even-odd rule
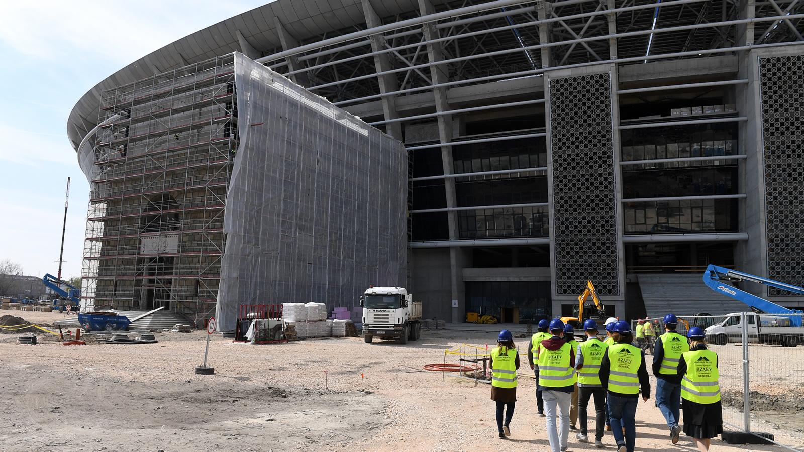
[[[768,277],[804,286],[804,55],[761,58],[759,69]]]

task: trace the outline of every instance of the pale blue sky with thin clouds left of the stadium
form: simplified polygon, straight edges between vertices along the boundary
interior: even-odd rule
[[[89,184],[70,146],[73,105],[126,64],[269,0],[45,0],[0,5],[0,260],[80,276]]]

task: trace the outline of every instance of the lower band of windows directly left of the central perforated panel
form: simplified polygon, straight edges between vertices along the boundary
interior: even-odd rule
[[[458,211],[461,239],[548,236],[548,208],[499,208]]]

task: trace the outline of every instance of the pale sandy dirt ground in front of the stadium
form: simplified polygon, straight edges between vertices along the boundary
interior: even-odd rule
[[[41,325],[63,317],[12,313]],[[548,450],[533,379],[520,379],[512,435],[501,440],[488,385],[420,372],[442,362],[447,347],[492,343],[490,333],[422,331],[407,345],[362,338],[249,345],[215,335],[214,376],[194,373],[202,331],[157,333],[159,343],[137,345],[88,336],[86,346],[63,346],[39,335],[31,346],[15,337],[0,338],[3,451]],[[531,372],[527,339],[517,343],[524,376]],[[804,347],[785,351],[804,355]],[[695,450],[685,437],[671,445],[652,400],[639,404],[637,425],[637,450]],[[804,446],[795,432],[770,424],[761,430]],[[610,433],[604,443],[614,450]],[[571,434],[569,450],[596,449]],[[711,450],[781,449],[716,440]]]

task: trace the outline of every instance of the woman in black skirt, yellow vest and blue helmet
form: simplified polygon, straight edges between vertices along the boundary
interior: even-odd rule
[[[690,350],[681,354],[677,369],[682,376],[684,434],[695,440],[698,450],[707,452],[712,438],[723,433],[717,354],[707,349],[704,331],[699,327],[691,327],[687,339]]]

